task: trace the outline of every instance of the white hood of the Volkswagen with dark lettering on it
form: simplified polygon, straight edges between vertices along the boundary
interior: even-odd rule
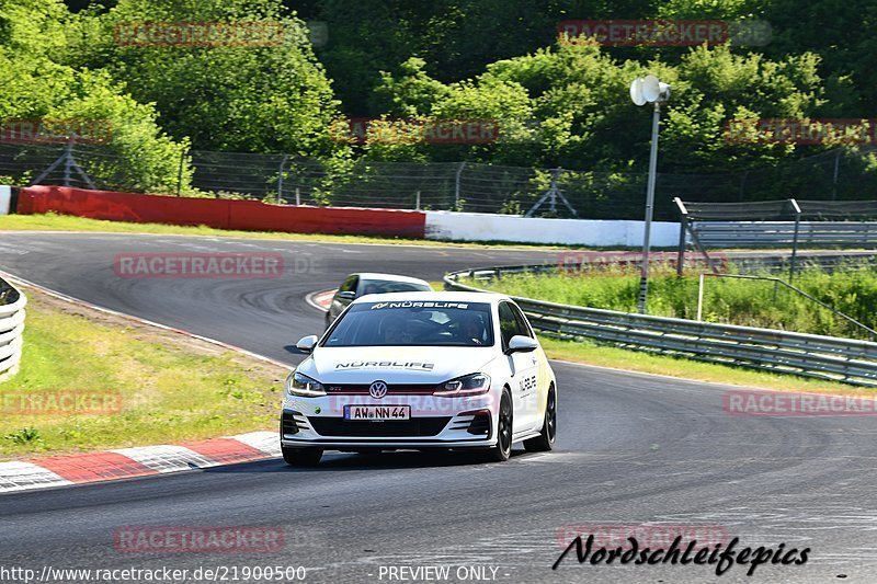
[[[478,373],[493,347],[318,347],[298,371],[323,383],[440,383]]]

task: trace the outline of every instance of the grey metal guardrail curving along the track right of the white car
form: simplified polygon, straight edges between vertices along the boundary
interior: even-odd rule
[[[523,268],[454,272],[445,276],[445,288],[483,291],[459,279],[493,279]],[[877,387],[877,343],[514,299],[533,328],[549,336]]]

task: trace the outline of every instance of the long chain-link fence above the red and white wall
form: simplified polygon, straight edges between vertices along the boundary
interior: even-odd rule
[[[704,203],[877,198],[874,149],[836,149],[726,174],[659,173],[654,217],[675,220],[674,197]],[[122,157],[99,145],[0,144],[0,176],[143,192]],[[591,219],[641,219],[646,173],[532,169],[475,162],[322,162],[287,154],[193,150],[169,165],[167,193],[282,204],[466,210]],[[179,169],[176,168],[179,167]]]

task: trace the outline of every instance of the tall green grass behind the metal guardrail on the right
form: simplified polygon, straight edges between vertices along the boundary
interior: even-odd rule
[[[764,274],[768,275],[768,274]],[[677,277],[658,271],[649,279],[648,312],[662,317],[695,319],[696,275]],[[822,302],[877,328],[877,273],[847,266],[834,273],[806,267],[795,285]],[[630,270],[521,274],[504,276],[479,287],[512,296],[554,302],[635,312],[639,275]],[[820,308],[807,298],[764,280],[706,278],[704,314],[707,322],[782,329],[811,334],[868,339],[867,332]]]

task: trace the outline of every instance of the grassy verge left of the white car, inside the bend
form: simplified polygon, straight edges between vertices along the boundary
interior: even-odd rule
[[[21,370],[0,383],[0,459],[175,444],[276,426],[284,368],[37,290],[25,293]],[[100,405],[91,413],[49,408],[73,393],[96,396]]]

